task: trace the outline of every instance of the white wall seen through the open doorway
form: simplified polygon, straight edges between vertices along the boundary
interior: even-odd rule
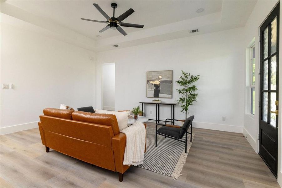
[[[103,109],[115,110],[115,64],[103,64]]]

